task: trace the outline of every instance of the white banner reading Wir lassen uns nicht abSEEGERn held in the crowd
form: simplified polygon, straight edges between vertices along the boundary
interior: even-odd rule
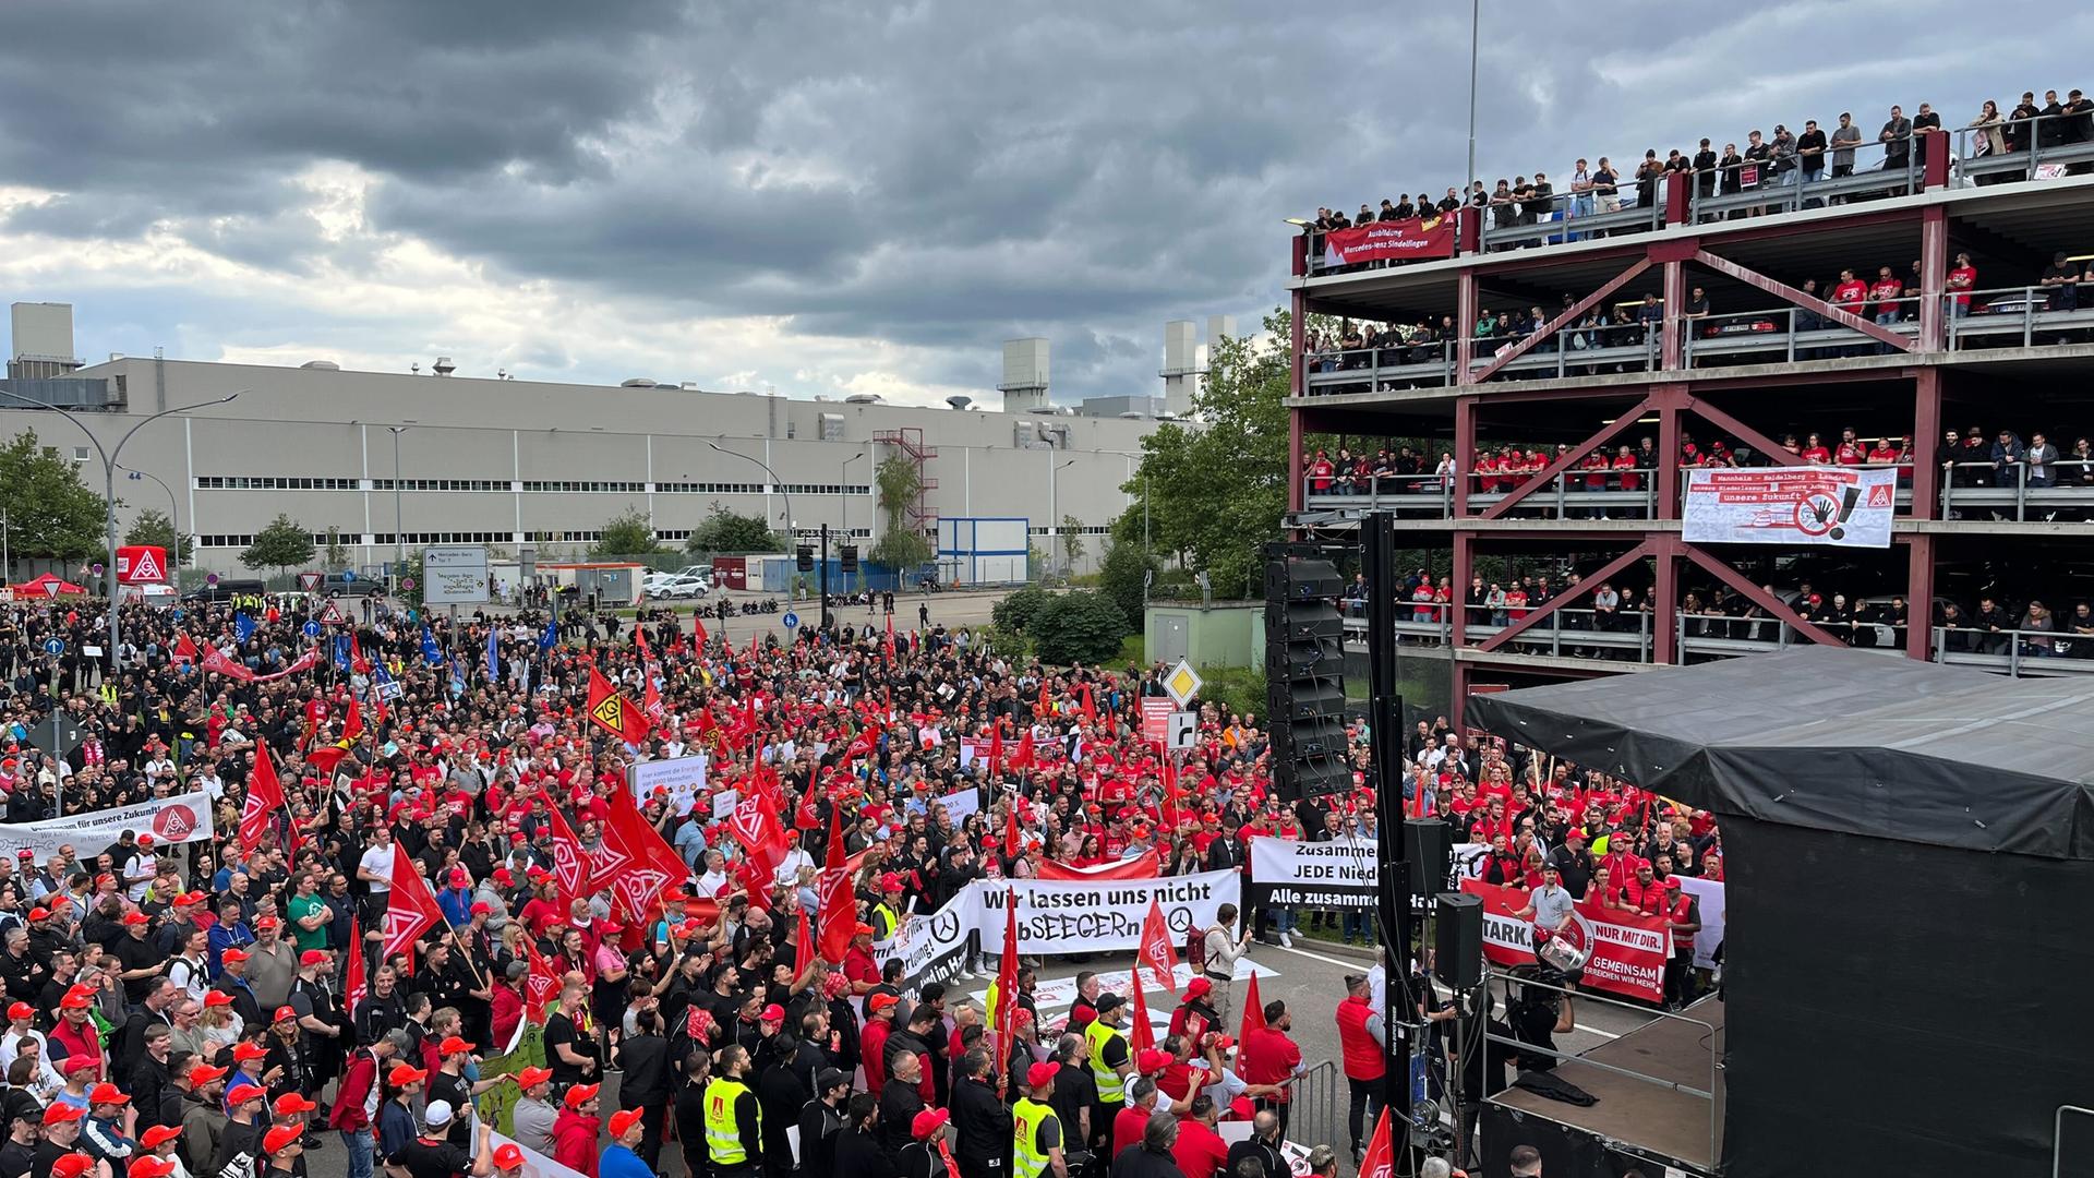
[[[1223,903],[1242,906],[1242,872],[1200,872],[1152,880],[974,880],[946,910],[959,910],[982,933],[982,956],[1003,952],[1005,889],[1018,893],[1020,954],[1110,954],[1141,943],[1150,899],[1162,901],[1173,943],[1187,929],[1212,929]]]

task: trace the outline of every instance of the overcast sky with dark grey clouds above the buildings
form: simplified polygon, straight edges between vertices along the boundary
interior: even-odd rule
[[[1315,13],[1315,15],[1311,15]],[[1981,29],[1979,23],[1987,27]],[[2035,27],[2027,27],[2035,25]],[[0,291],[86,358],[1156,394],[1319,203],[1460,182],[1468,6],[6,0]],[[1981,44],[1981,52],[1973,46]],[[1478,172],[2094,84],[2094,6],[1483,2]]]

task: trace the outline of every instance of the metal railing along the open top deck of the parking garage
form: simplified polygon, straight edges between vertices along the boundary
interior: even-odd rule
[[[1950,189],[2052,180],[2094,172],[2094,143],[2065,143],[2073,134],[2067,124],[2073,117],[2084,115],[2002,119],[2002,126],[2017,126],[2021,143],[2027,143],[2027,147],[2014,151],[1981,151],[1979,143],[1989,136],[1975,119],[1968,126],[1924,134],[1952,136],[1947,159]],[[1826,128],[1826,136],[1830,138],[1834,130]],[[1815,170],[1805,170],[1801,153],[1788,155],[1769,143],[1765,157],[1717,163],[1705,170],[1663,172],[1654,184],[1638,180],[1638,163],[1617,172],[1614,193],[1610,195],[1598,191],[1579,193],[1566,187],[1566,191],[1554,191],[1547,197],[1514,201],[1493,191],[1485,197],[1487,203],[1476,210],[1483,218],[1478,247],[1483,252],[1501,252],[1665,228],[1665,184],[1671,176],[1694,178],[1688,193],[1688,220],[1692,224],[1776,216],[1839,203],[1901,199],[1920,193],[1926,182],[1920,138],[1920,134],[1910,134],[1889,143],[1876,138],[1853,145],[1828,143],[1822,166]],[[2056,143],[2044,145],[2044,138]],[[1847,163],[1841,161],[1843,155],[1849,157]],[[1642,199],[1644,195],[1650,199]],[[1472,195],[1464,193],[1462,201],[1468,205]],[[1305,235],[1309,237],[1309,275],[1388,266],[1388,262],[1326,266],[1323,233],[1305,228]]]

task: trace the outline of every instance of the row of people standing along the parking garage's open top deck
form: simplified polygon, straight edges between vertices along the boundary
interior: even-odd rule
[[[2044,103],[2037,105],[2035,92],[2027,90],[2021,103],[2006,115],[2000,113],[1998,103],[1985,101],[1977,115],[1962,126],[1975,132],[1968,138],[1968,153],[1973,157],[2025,155],[2031,147],[2077,147],[2094,143],[2094,101],[2073,88],[2063,99],[2058,90],[2046,90]],[[1918,138],[1945,134],[1947,130],[1956,128],[1943,128],[1941,113],[1935,111],[1933,103],[1920,103],[1912,115],[1901,105],[1889,107],[1883,126],[1868,138],[1855,115],[1843,111],[1830,126],[1820,126],[1818,119],[1803,119],[1799,130],[1790,130],[1780,122],[1774,124],[1772,134],[1755,128],[1746,132],[1742,149],[1736,140],[1723,143],[1717,149],[1715,138],[1700,138],[1692,153],[1675,147],[1665,157],[1658,157],[1658,151],[1652,147],[1633,166],[1617,166],[1606,155],[1596,157],[1598,163],[1587,163],[1581,157],[1564,174],[1562,184],[1550,180],[1545,172],[1535,172],[1533,178],[1499,178],[1495,187],[1487,187],[1480,178],[1470,180],[1466,191],[1453,187],[1436,199],[1426,191],[1418,191],[1416,195],[1405,193],[1397,199],[1384,197],[1380,208],[1361,203],[1359,212],[1351,216],[1342,208],[1319,208],[1317,216],[1307,222],[1307,228],[1311,233],[1328,233],[1378,220],[1432,218],[1464,205],[1480,210],[1491,228],[1533,226],[1552,218],[1589,218],[1623,208],[1648,210],[1658,203],[1658,189],[1665,178],[1681,174],[1692,176],[1694,193],[1702,199],[1780,187],[1809,187],[1820,178],[1853,176],[1857,166],[1893,174],[1887,180],[1887,189],[1903,191],[1899,187],[1903,182],[1901,174],[1916,159],[1914,145]],[[1857,159],[1864,147],[1880,149],[1880,161]],[[2090,166],[2075,161],[2067,170],[2081,174]],[[1998,184],[2025,178],[2029,178],[2027,170],[2008,170],[1989,172],[1981,182]],[[1740,216],[1742,212],[1748,210],[1705,216]],[[1541,241],[1541,237],[1535,237],[1522,243],[1539,245]]]

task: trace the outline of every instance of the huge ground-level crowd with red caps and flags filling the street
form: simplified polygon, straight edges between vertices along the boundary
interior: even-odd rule
[[[517,1144],[593,1178],[1037,1178],[1085,1159],[1282,1174],[1294,1015],[1265,1002],[1238,1042],[1231,979],[1296,914],[1223,908],[1145,1052],[1095,975],[1062,1023],[1026,968],[1016,1042],[990,1046],[982,1004],[905,987],[871,950],[911,910],[1047,857],[1156,851],[1162,872],[1196,872],[1244,868],[1256,832],[1372,836],[1365,784],[1326,830],[1296,826],[1254,717],[1202,708],[1164,788],[1137,736],[1158,669],[1045,669],[967,629],[879,618],[735,648],[655,610],[555,625],[377,602],[318,641],[306,620],[270,602],[126,606],[111,673],[88,654],[107,635],[96,602],[0,608],[8,822],[191,790],[214,809],[203,841],[140,828],[0,857],[0,1178],[295,1178],[327,1147],[350,1178],[515,1178]],[[593,719],[599,675],[651,713],[643,738]],[[52,713],[75,746],[34,740]],[[706,790],[637,799],[685,876],[645,914],[609,889],[572,895],[563,870],[605,847],[628,767],[697,750]],[[714,817],[727,788],[775,799],[783,851],[758,857]],[[963,788],[980,805],[953,822],[934,799]],[[802,914],[833,912],[831,838],[854,857],[827,899],[852,906],[840,960],[798,939]],[[404,874],[442,918],[383,952]],[[542,1067],[482,1071],[540,1021]],[[505,1086],[513,1142],[475,1111]],[[1223,1119],[1248,1119],[1248,1140],[1221,1147]],[[1351,1134],[1357,1157],[1359,1117]],[[1336,1174],[1330,1144],[1319,1174]]]

